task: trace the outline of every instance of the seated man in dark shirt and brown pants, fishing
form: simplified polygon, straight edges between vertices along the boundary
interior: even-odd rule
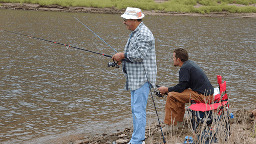
[[[174,66],[180,67],[179,83],[170,88],[157,88],[160,94],[168,93],[165,104],[165,127],[162,129],[164,133],[168,132],[172,125],[176,130],[183,127],[185,103],[188,103],[190,99],[207,102],[214,94],[214,87],[206,74],[196,63],[188,60],[188,53],[185,49],[175,49],[173,57]],[[161,130],[157,131],[157,134],[161,134]]]

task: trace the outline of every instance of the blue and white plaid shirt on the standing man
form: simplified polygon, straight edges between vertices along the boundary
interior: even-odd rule
[[[129,35],[129,40],[124,47],[125,58],[133,62],[123,61],[123,72],[126,77],[124,90],[134,91],[139,89],[147,82],[147,78],[155,88],[157,75],[155,51],[155,38],[141,22],[136,30]]]

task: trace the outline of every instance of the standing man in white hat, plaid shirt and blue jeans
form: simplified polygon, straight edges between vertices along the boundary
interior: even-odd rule
[[[124,52],[116,53],[112,59],[118,61],[118,65],[123,63],[123,73],[126,77],[124,90],[131,91],[133,134],[129,144],[141,144],[145,143],[147,98],[156,83],[155,38],[142,22],[144,14],[140,9],[128,7],[121,17],[131,34]],[[132,63],[122,62],[124,58]]]

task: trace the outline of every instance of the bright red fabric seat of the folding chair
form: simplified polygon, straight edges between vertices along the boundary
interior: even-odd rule
[[[221,106],[224,106],[227,101],[214,103],[214,104],[205,104],[205,103],[196,103],[189,106],[191,110],[195,111],[209,111],[209,110],[216,110]]]

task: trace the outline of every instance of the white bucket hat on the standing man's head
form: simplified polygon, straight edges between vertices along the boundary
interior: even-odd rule
[[[130,7],[127,7],[125,13],[121,15],[125,19],[142,19],[144,16],[141,9]]]

